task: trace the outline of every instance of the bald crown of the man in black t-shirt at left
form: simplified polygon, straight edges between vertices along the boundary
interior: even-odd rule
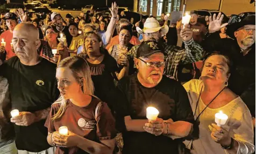
[[[31,39],[38,40],[39,39],[39,31],[37,27],[35,27],[31,23],[20,23],[18,24],[14,30],[13,33],[19,33],[20,35],[29,35]]]

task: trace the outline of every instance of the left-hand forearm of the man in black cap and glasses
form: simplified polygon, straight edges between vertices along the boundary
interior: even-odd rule
[[[127,131],[144,132],[143,126],[147,123],[147,120],[132,120],[131,116],[125,116],[124,123]]]

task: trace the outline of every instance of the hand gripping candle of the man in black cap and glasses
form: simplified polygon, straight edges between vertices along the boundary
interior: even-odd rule
[[[155,136],[159,136],[163,134],[165,128],[165,123],[161,118],[157,118],[157,120],[152,121],[148,120],[148,123],[145,123],[143,127],[147,133],[153,134]]]

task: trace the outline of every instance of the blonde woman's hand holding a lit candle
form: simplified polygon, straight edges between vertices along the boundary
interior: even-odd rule
[[[52,135],[52,141],[56,146],[72,147],[78,145],[79,136],[68,130],[68,135],[61,135],[59,131],[55,131]]]

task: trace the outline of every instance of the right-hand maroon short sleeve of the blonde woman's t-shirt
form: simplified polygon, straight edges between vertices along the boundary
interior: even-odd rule
[[[111,140],[116,137],[115,119],[105,102],[103,102],[103,105],[99,108],[96,121],[99,140]]]

